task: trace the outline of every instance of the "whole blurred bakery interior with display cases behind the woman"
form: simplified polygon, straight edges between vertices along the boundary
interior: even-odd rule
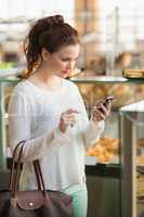
[[[0,189],[9,184],[8,104],[26,71],[23,40],[35,20],[63,14],[81,38],[67,79],[88,115],[97,100],[115,98],[102,137],[86,151],[88,217],[144,217],[143,1],[0,0]]]

